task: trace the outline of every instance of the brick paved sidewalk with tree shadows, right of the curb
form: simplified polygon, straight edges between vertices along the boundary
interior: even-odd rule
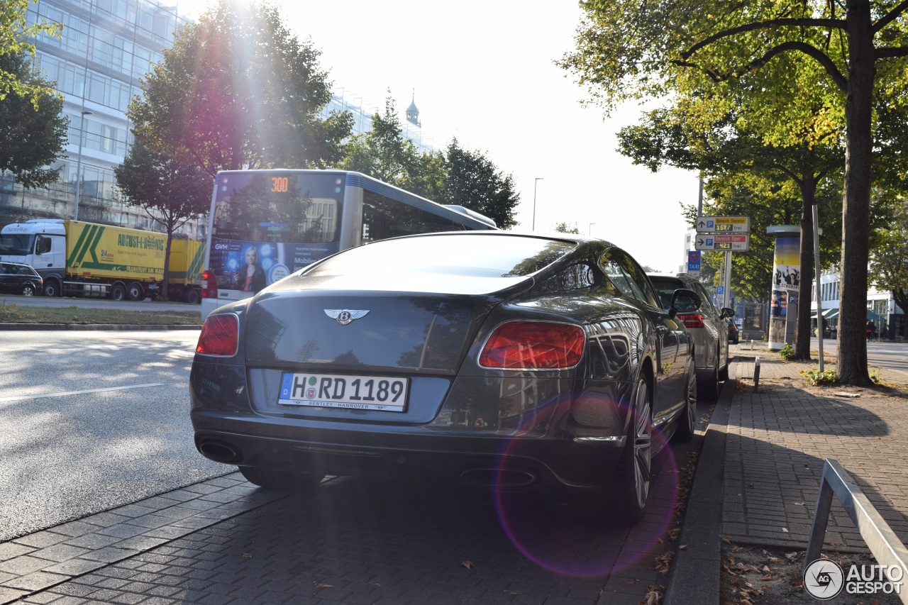
[[[824,459],[839,461],[903,542],[908,542],[908,400],[847,386],[810,387],[799,375],[817,363],[739,357],[725,445],[722,535],[732,541],[793,547],[807,544]],[[824,369],[835,369],[834,363]],[[878,370],[884,383],[908,374]],[[859,396],[849,396],[858,394]],[[826,542],[864,549],[834,500]]]

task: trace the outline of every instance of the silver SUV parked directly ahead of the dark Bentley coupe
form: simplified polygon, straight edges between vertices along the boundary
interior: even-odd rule
[[[719,382],[728,379],[728,318],[734,317],[735,310],[716,308],[706,288],[695,277],[687,273],[647,273],[653,283],[662,305],[676,290],[693,290],[700,297],[696,309],[678,312],[678,319],[684,322],[694,338],[694,359],[696,362],[697,390],[707,402],[716,401],[719,396]]]

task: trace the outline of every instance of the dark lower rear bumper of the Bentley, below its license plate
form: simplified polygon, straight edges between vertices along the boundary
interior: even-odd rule
[[[238,466],[367,475],[439,478],[461,485],[584,491],[609,481],[623,438],[575,440],[474,437],[291,429],[192,414],[196,448],[206,458]]]

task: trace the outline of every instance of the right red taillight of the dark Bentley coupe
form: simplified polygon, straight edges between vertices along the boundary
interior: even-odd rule
[[[479,354],[479,365],[510,370],[557,370],[580,362],[583,330],[549,322],[508,322],[496,328]]]

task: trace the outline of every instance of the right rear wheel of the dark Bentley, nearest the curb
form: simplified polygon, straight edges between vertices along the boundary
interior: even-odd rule
[[[653,464],[652,395],[644,378],[637,381],[627,422],[627,442],[617,461],[608,508],[616,525],[643,519]]]

